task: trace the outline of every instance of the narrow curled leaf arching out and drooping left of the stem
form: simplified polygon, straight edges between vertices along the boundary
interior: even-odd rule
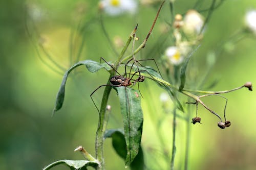
[[[67,82],[70,72],[80,65],[86,65],[87,69],[90,72],[96,72],[101,68],[105,68],[106,70],[111,70],[111,67],[108,64],[106,64],[106,63],[101,64],[101,63],[98,63],[98,62],[95,62],[92,60],[79,61],[78,63],[76,63],[72,67],[70,67],[66,71],[65,75],[63,76],[59,91],[56,96],[55,107],[53,109],[52,115],[54,115],[54,113],[62,107],[62,104],[64,102],[64,97],[65,97],[65,86],[66,86],[66,82]]]

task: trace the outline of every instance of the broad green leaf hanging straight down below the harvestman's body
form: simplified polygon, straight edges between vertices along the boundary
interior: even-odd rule
[[[143,113],[140,105],[139,91],[127,87],[115,88],[120,101],[123,118],[124,137],[127,155],[125,165],[130,165],[139,152]]]

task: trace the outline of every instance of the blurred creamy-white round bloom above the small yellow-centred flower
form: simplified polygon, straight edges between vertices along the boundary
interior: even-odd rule
[[[204,25],[203,16],[196,10],[187,11],[184,17],[184,29],[188,33],[199,34]]]

